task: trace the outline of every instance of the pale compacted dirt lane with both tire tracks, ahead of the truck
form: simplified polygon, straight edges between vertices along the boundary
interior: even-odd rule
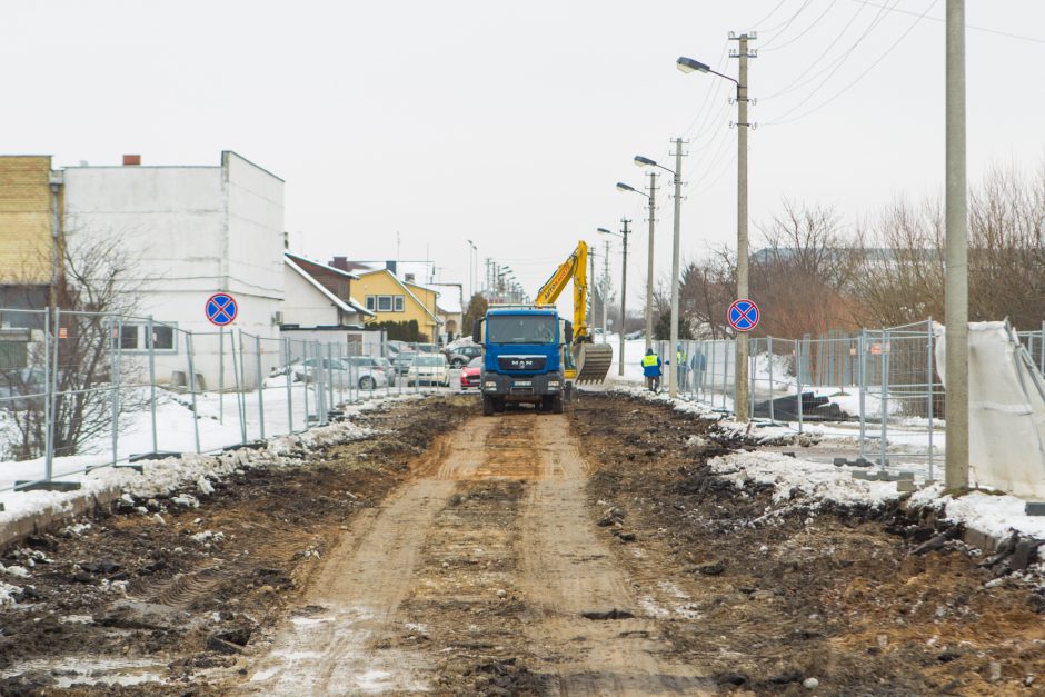
[[[709,688],[663,657],[588,514],[588,474],[566,417],[469,421],[355,521],[245,689],[484,689],[507,674],[501,688],[570,695]]]

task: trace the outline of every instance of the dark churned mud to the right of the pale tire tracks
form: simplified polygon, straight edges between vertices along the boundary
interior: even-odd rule
[[[678,590],[661,625],[673,655],[719,688],[803,694],[813,677],[823,694],[1045,694],[1041,596],[995,581],[959,542],[910,554],[932,520],[800,506],[767,517],[780,508],[768,490],[708,475],[721,448],[694,438],[689,417],[591,396],[570,421],[599,464],[593,500],[624,514],[606,534],[636,536],[617,559],[644,589]]]

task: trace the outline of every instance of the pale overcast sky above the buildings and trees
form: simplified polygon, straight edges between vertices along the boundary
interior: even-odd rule
[[[678,56],[735,76],[728,32],[758,31],[756,238],[785,197],[852,221],[942,193],[945,3],[4,0],[0,152],[217,165],[236,150],[287,181],[287,229],[310,257],[427,256],[467,286],[471,239],[530,293],[628,217],[637,289],[645,199],[614,189],[643,183],[634,155],[670,165],[669,140],[690,140],[684,259],[736,239],[732,83],[678,72]],[[1045,2],[967,4],[975,181],[1045,158]]]

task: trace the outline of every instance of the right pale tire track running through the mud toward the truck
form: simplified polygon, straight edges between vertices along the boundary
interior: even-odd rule
[[[693,667],[660,656],[668,646],[657,623],[643,616],[629,579],[586,511],[588,466],[566,417],[543,418],[540,425],[543,477],[521,514],[519,555],[538,620],[527,634],[555,666],[550,689],[563,695],[714,691]],[[583,615],[614,610],[620,619]]]

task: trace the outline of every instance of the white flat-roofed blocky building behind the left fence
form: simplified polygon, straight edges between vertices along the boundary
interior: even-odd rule
[[[163,326],[155,330],[157,380],[181,382],[188,375],[186,335],[195,333],[193,368],[205,387],[233,385],[230,335],[260,337],[260,372],[279,360],[278,315],[283,299],[283,181],[230,151],[219,166],[142,167],[136,156],[123,167],[70,167],[64,171],[66,231],[70,245],[90,236],[119,236],[142,283],[140,315]],[[235,321],[219,333],[205,306],[216,292],[238,303]],[[125,326],[126,354],[147,354],[146,322]],[[207,332],[210,332],[209,336]],[[243,370],[256,386],[256,360]],[[223,375],[219,375],[223,365]]]

